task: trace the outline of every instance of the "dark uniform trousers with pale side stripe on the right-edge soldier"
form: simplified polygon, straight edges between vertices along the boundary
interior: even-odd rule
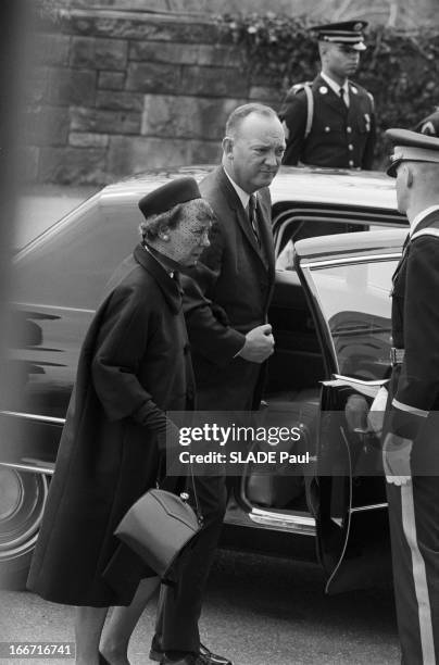
[[[386,484],[403,665],[439,664],[439,477]]]

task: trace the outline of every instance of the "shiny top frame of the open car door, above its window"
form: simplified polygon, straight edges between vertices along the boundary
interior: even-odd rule
[[[300,260],[327,261],[350,256],[400,254],[406,228],[386,228],[352,234],[337,234],[298,240],[294,250]]]

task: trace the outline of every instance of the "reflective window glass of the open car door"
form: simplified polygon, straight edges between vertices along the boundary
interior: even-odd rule
[[[340,374],[362,380],[388,377],[396,267],[394,260],[311,268]]]

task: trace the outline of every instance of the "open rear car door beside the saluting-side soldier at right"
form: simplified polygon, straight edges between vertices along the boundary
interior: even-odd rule
[[[328,593],[391,579],[379,434],[366,415],[390,375],[389,293],[405,235],[349,234],[296,246],[325,362],[311,494]]]

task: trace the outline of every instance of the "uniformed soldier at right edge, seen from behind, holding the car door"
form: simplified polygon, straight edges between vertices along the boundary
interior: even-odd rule
[[[392,376],[384,427],[404,665],[439,663],[439,139],[389,129],[388,174],[410,233],[393,275]]]

